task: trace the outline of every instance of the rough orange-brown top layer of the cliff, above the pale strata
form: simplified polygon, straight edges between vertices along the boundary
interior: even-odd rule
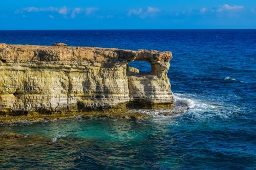
[[[58,44],[58,43],[57,43]],[[0,43],[0,60],[17,61],[163,61],[172,59],[171,52],[148,50],[121,50],[117,48],[75,47],[59,43],[54,46],[41,45],[8,45]]]

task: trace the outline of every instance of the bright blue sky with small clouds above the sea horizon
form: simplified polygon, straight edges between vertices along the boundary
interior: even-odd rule
[[[255,29],[255,0],[8,0],[0,30]]]

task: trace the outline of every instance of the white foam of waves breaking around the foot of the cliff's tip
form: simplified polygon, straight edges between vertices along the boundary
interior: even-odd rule
[[[171,109],[136,110],[142,114],[157,117],[157,121],[174,120],[169,117],[189,118],[193,121],[206,121],[209,118],[227,118],[231,112],[226,111],[226,106],[205,100],[196,94],[174,93],[175,107]]]

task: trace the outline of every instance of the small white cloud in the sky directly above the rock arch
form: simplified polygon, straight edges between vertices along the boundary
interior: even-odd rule
[[[160,9],[153,8],[153,7],[147,7],[145,10],[143,9],[130,9],[128,11],[128,16],[137,15],[140,18],[146,18],[148,16],[153,16],[155,13],[159,12]]]

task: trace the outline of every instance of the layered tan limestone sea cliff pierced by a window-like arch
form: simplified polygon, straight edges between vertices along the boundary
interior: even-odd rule
[[[171,107],[170,52],[0,45],[0,114]],[[148,61],[142,74],[127,64]]]

